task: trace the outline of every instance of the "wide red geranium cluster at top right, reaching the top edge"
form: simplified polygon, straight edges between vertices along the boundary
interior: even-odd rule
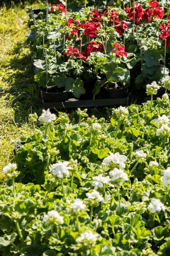
[[[149,8],[143,10],[142,6],[138,5],[138,3],[134,3],[137,7],[135,8],[129,8],[126,7],[127,17],[130,20],[133,20],[134,18],[134,11],[135,11],[135,23],[138,24],[141,20],[146,20],[149,22],[153,22],[153,17],[156,17],[157,19],[161,19],[164,17],[164,10],[157,6],[158,2],[153,1],[149,2]]]

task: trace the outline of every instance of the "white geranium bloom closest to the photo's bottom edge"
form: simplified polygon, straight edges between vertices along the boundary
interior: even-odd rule
[[[99,234],[92,233],[91,230],[85,231],[79,236],[76,241],[78,244],[82,244],[85,247],[92,247],[95,245],[96,240],[98,239]]]

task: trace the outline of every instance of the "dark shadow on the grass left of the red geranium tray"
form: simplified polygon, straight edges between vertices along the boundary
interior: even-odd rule
[[[34,71],[31,64],[31,54],[25,50],[25,44],[17,43],[10,53],[11,60],[3,67],[9,70],[6,79],[10,85],[6,90],[9,96],[8,105],[15,111],[15,122],[19,125],[26,121],[28,114],[41,108],[38,98],[38,87],[34,82]],[[8,71],[7,71],[8,72]]]

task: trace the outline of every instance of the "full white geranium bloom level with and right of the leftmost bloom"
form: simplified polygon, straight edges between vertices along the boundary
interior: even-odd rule
[[[70,173],[68,170],[72,169],[70,166],[68,166],[69,162],[64,161],[63,163],[61,161],[58,161],[58,163],[54,163],[49,167],[49,169],[52,172],[52,175],[57,176],[58,178],[63,178],[63,175],[66,177],[70,176]]]

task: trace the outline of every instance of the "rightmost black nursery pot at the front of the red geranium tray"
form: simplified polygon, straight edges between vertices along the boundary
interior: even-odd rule
[[[103,88],[103,94],[106,99],[117,99],[127,97],[130,84],[127,84],[125,87],[120,87],[117,89],[108,89]]]

